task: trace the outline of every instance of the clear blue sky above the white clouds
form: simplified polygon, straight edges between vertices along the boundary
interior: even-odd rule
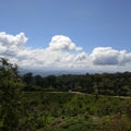
[[[23,32],[28,38],[24,48],[48,48],[53,36],[62,35],[88,56],[97,47],[110,47],[127,50],[129,60],[130,5],[130,0],[0,0],[0,32]]]

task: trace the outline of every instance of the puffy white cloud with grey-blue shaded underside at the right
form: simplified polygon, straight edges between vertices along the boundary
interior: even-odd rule
[[[131,61],[131,52],[111,47],[97,47],[92,51],[91,59],[97,66],[126,64]]]

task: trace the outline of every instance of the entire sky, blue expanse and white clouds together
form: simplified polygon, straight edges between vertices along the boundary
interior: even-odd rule
[[[0,0],[0,57],[33,71],[131,71],[130,0]]]

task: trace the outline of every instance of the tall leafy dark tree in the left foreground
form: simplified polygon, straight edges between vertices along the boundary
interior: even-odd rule
[[[17,131],[22,81],[17,66],[0,58],[0,119],[1,131]]]

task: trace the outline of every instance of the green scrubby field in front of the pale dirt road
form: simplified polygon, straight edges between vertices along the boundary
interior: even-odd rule
[[[22,130],[130,131],[131,98],[75,93],[24,93]]]

